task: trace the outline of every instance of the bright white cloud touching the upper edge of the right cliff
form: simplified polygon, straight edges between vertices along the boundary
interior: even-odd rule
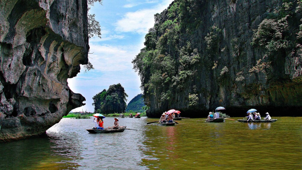
[[[127,12],[121,20],[117,21],[115,30],[138,34],[148,33],[149,28],[154,25],[154,14],[162,12],[172,1],[164,0],[161,4],[152,8]]]

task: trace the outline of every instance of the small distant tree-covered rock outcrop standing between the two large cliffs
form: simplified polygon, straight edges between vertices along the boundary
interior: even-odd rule
[[[93,96],[92,103],[95,106],[95,112],[111,114],[124,113],[127,107],[126,94],[124,87],[118,83],[117,85],[109,86],[108,90],[104,89],[100,93]]]

